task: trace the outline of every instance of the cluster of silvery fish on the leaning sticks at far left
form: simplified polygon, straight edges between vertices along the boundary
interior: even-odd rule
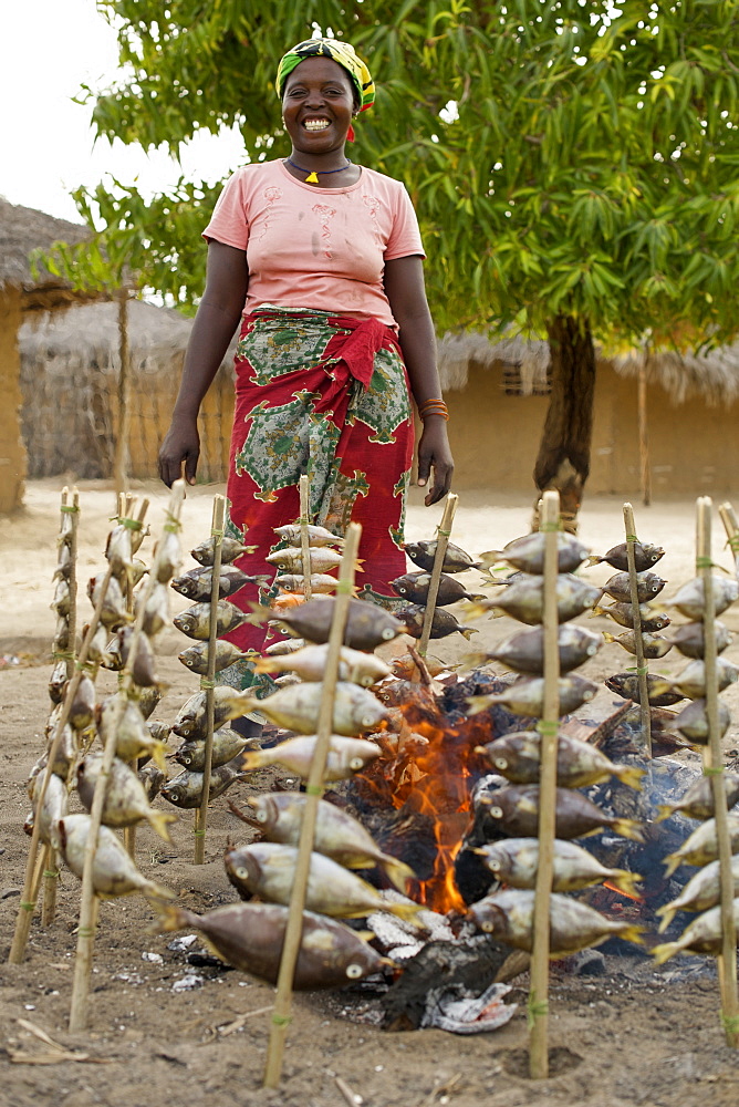
[[[93,607],[100,609],[100,621],[92,633],[89,627],[84,628],[87,652],[80,679],[67,681],[66,669],[62,670],[59,664],[52,671],[49,690],[55,706],[46,724],[46,749],[29,777],[32,813],[25,829],[31,832],[38,819],[40,840],[51,846],[75,876],[82,877],[91,817],[84,811],[69,814],[70,790],[76,789],[82,807],[90,811],[104,762],[104,754],[92,747],[97,739],[103,746],[114,743],[115,755],[93,866],[93,888],[101,897],[133,891],[171,894],[137,870],[115,830],[147,821],[168,841],[167,825],[176,818],[150,806],[165,779],[169,728],[153,722],[149,716],[163,694],[155,673],[152,639],[169,620],[167,586],[181,557],[178,529],[174,520],[165,527],[155,550],[154,579],[144,596],[134,592],[149,572],[135,557],[145,537],[143,525],[121,518],[111,530],[105,549],[108,570],[96,573],[87,587]],[[69,545],[64,527],[60,541]],[[69,579],[69,559],[65,565],[70,566]],[[58,588],[55,601],[59,598]],[[131,659],[132,682],[98,704],[97,671],[100,668],[119,671],[128,663],[132,622],[138,613],[142,632],[136,655]],[[66,722],[60,730],[62,715],[66,716]],[[41,782],[45,778],[52,749],[54,757],[40,805]],[[146,764],[149,759],[152,765]],[[143,767],[137,772],[139,766]]]

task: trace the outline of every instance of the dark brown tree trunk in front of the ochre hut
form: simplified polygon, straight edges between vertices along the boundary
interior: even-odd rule
[[[572,315],[556,315],[547,329],[547,337],[552,359],[552,392],[533,478],[540,496],[550,488],[559,492],[562,526],[575,534],[590,473],[595,348],[587,323]],[[533,527],[539,527],[538,503]]]

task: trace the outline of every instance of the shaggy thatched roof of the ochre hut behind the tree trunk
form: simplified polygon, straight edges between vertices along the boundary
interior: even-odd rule
[[[445,391],[465,389],[470,365],[490,369],[495,363],[519,370],[524,394],[541,391],[547,384],[551,359],[549,343],[544,341],[525,341],[520,335],[491,341],[486,334],[468,331],[445,334],[438,350]],[[608,356],[604,350],[597,350],[597,359],[611,364],[621,376],[637,376],[646,366],[647,381],[659,384],[677,404],[691,396],[700,396],[711,405],[730,404],[739,397],[739,343],[717,346],[707,353],[632,350]]]

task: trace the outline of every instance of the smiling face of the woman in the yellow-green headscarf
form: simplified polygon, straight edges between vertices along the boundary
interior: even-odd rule
[[[282,117],[293,151],[327,154],[343,148],[354,111],[348,73],[331,58],[306,58],[288,76]]]

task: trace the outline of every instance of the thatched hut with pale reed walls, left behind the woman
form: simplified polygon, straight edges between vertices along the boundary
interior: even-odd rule
[[[128,464],[132,477],[157,473],[192,320],[142,300],[127,302]],[[110,477],[118,430],[118,304],[37,313],[20,331],[23,438],[29,476],[71,472]],[[232,352],[200,413],[198,476],[222,479],[233,413]]]

